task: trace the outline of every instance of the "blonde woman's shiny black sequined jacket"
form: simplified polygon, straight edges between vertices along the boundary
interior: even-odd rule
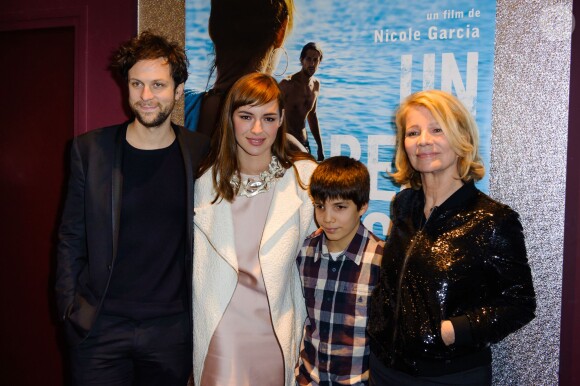
[[[490,344],[534,318],[536,301],[519,216],[466,183],[425,219],[422,190],[393,202],[371,350],[387,367],[443,375],[491,363]],[[441,321],[455,343],[445,346]]]

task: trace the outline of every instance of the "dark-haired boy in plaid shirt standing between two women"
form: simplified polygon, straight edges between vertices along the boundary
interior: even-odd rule
[[[368,304],[385,245],[360,221],[369,192],[367,168],[349,157],[328,158],[312,174],[320,228],[297,258],[308,310],[299,385],[368,385]]]

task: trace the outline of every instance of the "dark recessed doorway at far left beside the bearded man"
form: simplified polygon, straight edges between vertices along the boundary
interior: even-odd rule
[[[0,384],[62,385],[55,235],[74,133],[73,27],[0,32]]]

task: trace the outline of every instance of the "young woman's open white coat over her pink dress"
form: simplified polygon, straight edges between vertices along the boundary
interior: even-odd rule
[[[298,161],[295,166],[308,185],[317,164]],[[306,307],[296,256],[306,236],[315,230],[313,205],[294,173],[286,170],[276,182],[259,259],[268,294],[274,332],[284,356],[285,384],[294,385]],[[215,198],[211,170],[195,183],[193,258],[193,374],[201,376],[210,340],[238,283],[231,204]],[[251,226],[252,224],[248,224]],[[248,347],[248,350],[251,350]]]

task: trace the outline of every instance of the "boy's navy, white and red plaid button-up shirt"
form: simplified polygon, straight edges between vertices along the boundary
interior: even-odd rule
[[[308,309],[299,385],[368,385],[368,305],[384,245],[362,224],[336,260],[320,230],[304,241],[296,261]]]

